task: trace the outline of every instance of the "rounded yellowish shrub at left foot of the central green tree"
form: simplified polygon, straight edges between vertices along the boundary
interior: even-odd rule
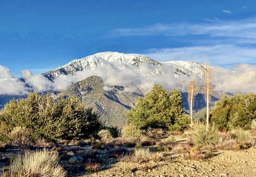
[[[136,142],[140,138],[141,130],[134,125],[126,125],[123,127],[121,133],[122,138],[124,138],[127,142]]]

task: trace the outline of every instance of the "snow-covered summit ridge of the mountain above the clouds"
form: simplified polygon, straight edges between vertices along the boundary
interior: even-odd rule
[[[125,65],[141,66],[143,63],[155,67],[152,71],[152,75],[163,74],[161,66],[174,67],[176,72],[175,76],[179,75],[191,75],[196,74],[202,76],[205,66],[197,62],[186,61],[169,61],[158,62],[145,55],[140,54],[125,54],[118,52],[101,52],[82,59],[76,59],[68,64],[48,71],[43,75],[49,80],[54,80],[59,75],[73,75],[76,71],[84,71],[89,69],[95,69],[97,67],[104,67],[105,63],[119,65],[118,68],[125,70]]]

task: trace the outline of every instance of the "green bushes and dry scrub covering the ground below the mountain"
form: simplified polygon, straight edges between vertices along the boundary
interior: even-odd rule
[[[0,152],[7,154],[0,176],[86,175],[115,163],[129,163],[123,173],[130,174],[174,158],[205,161],[218,150],[256,147],[252,94],[224,96],[211,109],[207,129],[205,122],[190,123],[179,91],[154,85],[127,117],[120,129],[105,127],[74,97],[53,100],[33,92],[12,100],[0,111]]]

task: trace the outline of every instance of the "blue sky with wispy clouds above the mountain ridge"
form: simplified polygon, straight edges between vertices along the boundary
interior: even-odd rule
[[[103,51],[256,64],[254,0],[0,1],[0,65],[34,74]]]

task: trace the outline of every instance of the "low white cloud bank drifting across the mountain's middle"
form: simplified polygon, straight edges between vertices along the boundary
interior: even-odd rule
[[[120,66],[119,66],[120,67]],[[163,84],[167,89],[177,88],[186,91],[189,76],[182,75],[179,78],[174,76],[174,67],[162,66],[158,71],[162,74],[152,75],[156,68],[150,65],[136,67],[127,65],[118,68],[117,65],[105,64],[94,70],[78,71],[75,75],[61,75],[54,82],[48,81],[42,75],[32,75],[29,70],[21,72],[22,77],[26,78],[26,83],[32,90],[38,88],[39,92],[50,90],[64,90],[74,82],[81,81],[89,76],[99,76],[105,80],[107,85],[123,85],[126,92],[131,92],[136,87],[148,91],[154,83]],[[156,72],[159,73],[159,72]],[[214,90],[217,92],[242,92],[256,93],[256,65],[241,64],[234,66],[232,70],[213,67]],[[198,78],[198,85],[200,84]],[[135,87],[136,86],[136,87]],[[105,87],[108,89],[108,87]],[[17,78],[13,78],[10,70],[0,66],[0,95],[23,95],[27,94],[31,88],[26,87],[25,83]]]

